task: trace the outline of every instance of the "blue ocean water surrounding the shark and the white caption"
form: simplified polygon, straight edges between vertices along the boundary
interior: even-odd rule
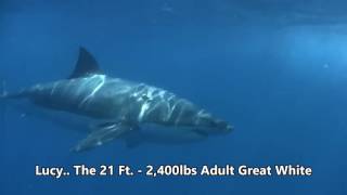
[[[347,194],[345,1],[0,1],[9,91],[67,77],[79,46],[112,76],[190,99],[227,136],[88,153],[86,134],[1,110],[0,194]],[[3,103],[2,103],[3,104]],[[39,178],[35,166],[304,165],[311,177]]]

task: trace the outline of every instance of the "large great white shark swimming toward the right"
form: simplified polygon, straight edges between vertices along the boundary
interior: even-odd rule
[[[115,139],[134,146],[142,141],[202,140],[233,129],[227,121],[167,90],[105,75],[83,48],[67,79],[13,93],[4,91],[0,99],[27,99],[44,108],[81,116],[89,134],[73,147],[74,152]]]

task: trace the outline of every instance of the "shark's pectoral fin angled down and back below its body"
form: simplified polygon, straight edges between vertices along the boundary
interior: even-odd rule
[[[136,126],[126,122],[105,122],[98,127],[99,129],[95,129],[86,139],[81,140],[74,148],[72,148],[72,151],[81,152],[92,150],[120,138],[125,133],[137,128]]]

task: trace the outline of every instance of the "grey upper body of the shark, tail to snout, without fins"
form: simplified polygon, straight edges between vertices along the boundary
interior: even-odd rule
[[[26,96],[41,106],[104,120],[226,131],[230,128],[174,93],[105,75],[36,84],[13,96]]]

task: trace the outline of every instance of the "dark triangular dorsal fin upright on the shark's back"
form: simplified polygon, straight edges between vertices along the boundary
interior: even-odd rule
[[[86,77],[94,74],[102,74],[97,60],[85,48],[80,47],[75,69],[68,78]]]

